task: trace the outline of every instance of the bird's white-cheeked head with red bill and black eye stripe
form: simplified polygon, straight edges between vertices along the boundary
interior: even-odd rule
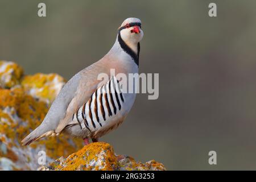
[[[141,20],[138,18],[127,18],[118,31],[123,41],[130,46],[137,45],[143,38]]]

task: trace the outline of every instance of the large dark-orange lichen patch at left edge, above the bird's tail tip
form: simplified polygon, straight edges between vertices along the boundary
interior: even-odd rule
[[[30,133],[31,127],[35,128],[38,126],[47,113],[47,105],[44,102],[36,101],[32,96],[28,96],[24,93],[21,88],[11,90],[0,89],[0,107],[13,107],[16,111],[16,113],[13,114],[18,115],[20,119],[27,122],[27,125],[19,126],[19,122],[12,121],[9,114],[0,111],[0,114],[2,113],[1,118],[7,118],[11,123],[11,125],[6,123],[7,126],[0,126],[0,130],[1,127],[5,127],[5,129],[1,130],[1,133],[7,134],[8,138],[16,138],[18,140],[21,140],[25,135]],[[8,127],[8,129],[6,127]]]

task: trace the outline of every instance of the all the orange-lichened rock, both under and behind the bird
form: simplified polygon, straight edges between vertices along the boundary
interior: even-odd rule
[[[24,75],[18,64],[0,61],[0,170],[165,170],[154,160],[142,164],[115,155],[108,143],[82,148],[81,139],[64,134],[21,146],[20,141],[43,121],[64,84],[55,73]],[[42,151],[45,166],[38,164]]]

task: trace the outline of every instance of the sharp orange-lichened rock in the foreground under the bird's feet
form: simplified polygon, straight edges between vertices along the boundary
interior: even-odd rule
[[[108,143],[96,142],[84,146],[68,158],[59,158],[54,162],[40,167],[40,171],[163,171],[163,164],[150,160],[145,164],[136,162],[126,155],[115,155],[113,147]]]

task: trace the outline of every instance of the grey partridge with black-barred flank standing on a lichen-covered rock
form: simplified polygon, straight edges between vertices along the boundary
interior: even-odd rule
[[[120,80],[110,75],[110,70],[125,76],[138,73],[143,35],[140,19],[125,19],[110,51],[63,86],[42,123],[22,140],[22,145],[62,132],[82,138],[86,145],[90,139],[98,142],[100,137],[121,125],[134,104],[136,93],[123,92]],[[109,79],[98,80],[100,73]]]

